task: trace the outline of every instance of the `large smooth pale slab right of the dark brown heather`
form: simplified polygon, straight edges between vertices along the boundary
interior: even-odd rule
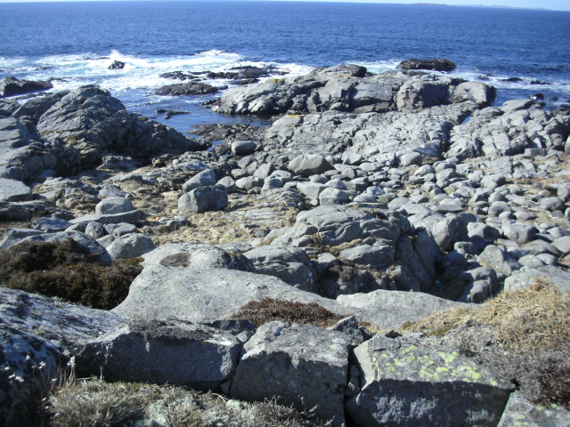
[[[175,317],[203,323],[229,318],[248,302],[264,298],[316,302],[343,315],[351,311],[322,296],[297,290],[273,276],[163,265],[142,270],[134,279],[126,300],[113,311],[129,318],[166,320]]]

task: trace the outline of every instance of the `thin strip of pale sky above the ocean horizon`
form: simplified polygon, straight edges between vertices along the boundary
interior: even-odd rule
[[[110,0],[0,0],[0,3],[29,3],[29,2],[53,2],[53,1],[110,1]],[[161,0],[155,0],[161,1]],[[271,0],[259,0],[271,1]],[[304,0],[280,0],[280,1],[304,1]],[[570,11],[570,0],[307,0],[307,1],[339,1],[344,3],[391,3],[391,4],[414,4],[433,3],[447,5],[483,5],[483,6],[508,6],[541,8],[552,11]]]

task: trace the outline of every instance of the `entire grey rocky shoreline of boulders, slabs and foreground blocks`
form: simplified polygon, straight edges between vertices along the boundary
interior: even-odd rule
[[[201,84],[172,90],[183,85]],[[110,382],[280,397],[326,425],[568,423],[476,362],[469,352],[502,354],[476,343],[487,326],[436,342],[402,329],[537,278],[570,293],[570,117],[494,97],[481,82],[340,65],[227,91],[208,108],[273,124],[199,138],[94,86],[0,100],[0,254],[71,245],[103,270],[140,262],[112,310],[3,279],[3,425],[20,416],[14,378],[71,358]],[[334,321],[242,314],[272,301]]]

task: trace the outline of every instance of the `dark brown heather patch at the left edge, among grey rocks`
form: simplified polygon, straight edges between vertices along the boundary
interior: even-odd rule
[[[142,271],[140,262],[142,258],[97,262],[72,238],[24,242],[0,251],[0,286],[110,310],[125,300]]]

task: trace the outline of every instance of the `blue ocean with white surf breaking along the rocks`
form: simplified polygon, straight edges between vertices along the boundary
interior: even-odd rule
[[[281,77],[341,63],[381,73],[402,60],[445,58],[457,65],[452,77],[495,85],[497,104],[543,93],[554,109],[570,101],[569,28],[570,12],[429,4],[0,4],[0,78],[53,79],[55,90],[101,85],[127,109],[188,132],[259,120],[202,107],[220,93],[159,96],[159,87],[176,83],[163,73],[273,66]],[[109,69],[113,60],[125,68]],[[166,120],[158,109],[190,114]]]

